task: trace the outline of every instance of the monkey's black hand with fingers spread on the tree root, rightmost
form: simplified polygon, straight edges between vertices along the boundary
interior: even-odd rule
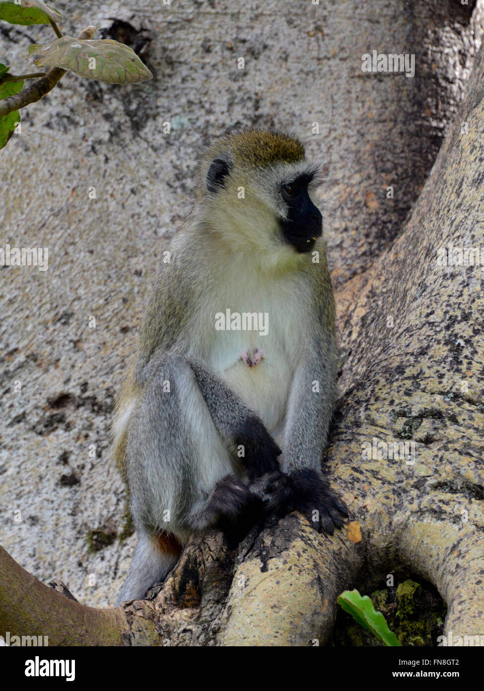
[[[268,513],[285,515],[300,511],[309,515],[316,530],[329,535],[335,526],[341,528],[348,517],[345,503],[312,468],[293,471],[290,475],[267,473],[249,489],[262,500]]]

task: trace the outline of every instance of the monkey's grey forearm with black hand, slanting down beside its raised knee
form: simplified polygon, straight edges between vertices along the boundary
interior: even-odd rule
[[[200,363],[190,364],[217,432],[240,457],[249,480],[277,471],[277,457],[282,452],[262,420],[215,372]]]

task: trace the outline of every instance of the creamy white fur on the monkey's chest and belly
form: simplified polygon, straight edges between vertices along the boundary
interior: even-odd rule
[[[284,422],[293,372],[304,357],[306,311],[297,283],[291,274],[269,279],[247,267],[227,265],[217,272],[215,289],[207,285],[204,306],[191,330],[200,337],[192,343],[199,351],[196,355],[275,435]],[[252,316],[244,318],[254,313],[256,325]],[[249,367],[241,353],[253,354],[256,349],[262,350],[262,359]]]

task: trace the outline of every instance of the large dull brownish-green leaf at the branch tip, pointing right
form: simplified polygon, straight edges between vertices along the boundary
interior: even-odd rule
[[[30,46],[29,53],[39,67],[61,67],[108,84],[134,84],[153,77],[134,50],[111,39],[80,41],[63,36],[46,46]]]

